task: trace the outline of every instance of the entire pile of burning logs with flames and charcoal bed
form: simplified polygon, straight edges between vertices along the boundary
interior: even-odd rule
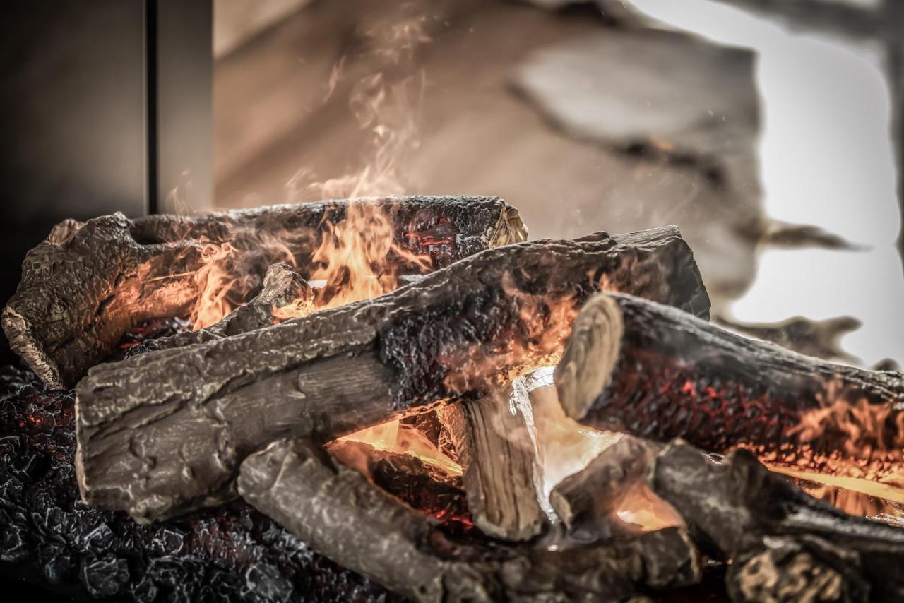
[[[904,596],[899,373],[712,325],[673,227],[526,232],[494,197],[61,223],[3,313],[5,570],[136,600]]]

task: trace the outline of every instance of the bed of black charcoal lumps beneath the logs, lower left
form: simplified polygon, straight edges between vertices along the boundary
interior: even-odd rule
[[[5,574],[84,598],[238,602],[261,600],[247,580],[257,563],[278,572],[270,576],[275,584],[291,586],[287,601],[398,600],[246,504],[153,526],[90,508],[80,501],[72,466],[73,403],[71,391],[49,391],[30,372],[0,368]]]

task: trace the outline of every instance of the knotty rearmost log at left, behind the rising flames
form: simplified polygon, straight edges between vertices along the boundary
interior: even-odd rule
[[[343,220],[347,203],[63,221],[25,256],[22,282],[3,312],[6,337],[43,382],[71,387],[130,328],[187,315],[200,294],[194,275],[205,246],[229,243],[238,254],[231,275],[244,286],[235,292],[238,305],[258,292],[270,264],[292,258],[306,263],[324,225]],[[526,238],[518,212],[495,197],[363,203],[391,220],[402,247],[428,253],[436,268]]]

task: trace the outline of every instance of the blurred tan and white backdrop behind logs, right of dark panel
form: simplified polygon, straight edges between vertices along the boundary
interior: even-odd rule
[[[724,324],[902,360],[894,4],[217,0],[216,203],[484,193],[534,238],[676,223]]]

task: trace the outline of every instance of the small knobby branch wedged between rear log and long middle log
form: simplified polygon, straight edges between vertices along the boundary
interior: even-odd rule
[[[137,353],[201,344],[276,325],[287,317],[308,316],[314,312],[314,289],[288,264],[274,264],[264,275],[260,293],[244,306],[232,310],[218,323],[197,331],[150,339],[129,351]]]

